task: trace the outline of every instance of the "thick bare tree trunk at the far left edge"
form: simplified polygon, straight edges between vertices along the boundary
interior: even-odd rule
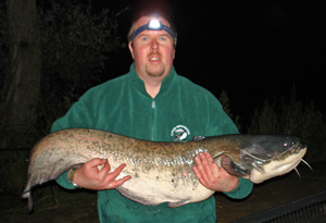
[[[1,129],[24,134],[36,122],[40,37],[36,0],[7,0],[10,65],[2,89]],[[5,141],[1,141],[5,146]]]

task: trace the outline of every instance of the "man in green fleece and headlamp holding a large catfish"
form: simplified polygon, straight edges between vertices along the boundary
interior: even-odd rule
[[[135,61],[129,73],[88,90],[53,124],[52,132],[85,127],[153,141],[238,133],[212,94],[176,74],[173,60],[177,36],[164,16],[138,17],[128,38]],[[205,187],[233,198],[250,194],[251,182],[227,174],[208,152],[195,161],[193,172]],[[98,171],[101,164],[104,166]],[[130,179],[126,176],[115,181],[124,166],[109,173],[106,160],[93,159],[76,171],[65,172],[57,182],[65,188],[98,190],[100,222],[216,221],[213,196],[176,209],[166,203],[145,206],[125,198],[114,189]]]

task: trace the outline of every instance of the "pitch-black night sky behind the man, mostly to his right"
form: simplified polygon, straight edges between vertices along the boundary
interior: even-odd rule
[[[93,5],[117,12],[127,5],[135,9],[135,2],[93,0]],[[293,96],[306,104],[313,101],[325,113],[325,1],[166,2],[178,32],[177,73],[216,97],[226,90],[233,112],[242,120],[266,98]],[[130,17],[131,12],[118,18],[123,37]],[[131,62],[126,48],[106,67],[121,75]]]

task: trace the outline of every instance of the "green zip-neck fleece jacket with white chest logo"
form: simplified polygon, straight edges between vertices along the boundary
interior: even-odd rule
[[[68,112],[54,122],[51,132],[84,127],[113,132],[153,141],[191,140],[193,136],[237,134],[218,100],[204,88],[176,74],[174,67],[153,99],[131,64],[129,73],[88,90]],[[73,189],[63,173],[57,182]],[[252,183],[240,178],[239,186],[225,193],[243,198]],[[166,203],[145,206],[122,196],[116,189],[98,191],[100,222],[216,222],[214,197],[176,209]]]

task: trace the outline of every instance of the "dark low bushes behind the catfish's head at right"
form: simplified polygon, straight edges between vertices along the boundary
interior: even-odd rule
[[[309,162],[326,160],[326,122],[314,103],[287,102],[281,99],[279,109],[276,101],[265,100],[264,107],[255,109],[249,134],[285,134],[300,137],[308,145],[305,158]]]

